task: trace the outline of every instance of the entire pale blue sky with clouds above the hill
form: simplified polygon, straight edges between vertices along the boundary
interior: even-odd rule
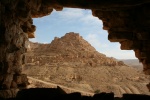
[[[131,50],[121,50],[120,44],[108,40],[107,31],[102,29],[102,21],[92,15],[91,10],[64,8],[53,11],[42,18],[34,18],[36,25],[33,42],[50,43],[54,37],[62,37],[66,33],[79,33],[97,51],[108,57],[117,59],[136,59]]]

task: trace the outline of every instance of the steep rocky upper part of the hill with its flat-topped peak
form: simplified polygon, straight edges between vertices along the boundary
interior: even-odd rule
[[[38,62],[40,65],[55,62],[76,62],[85,66],[124,65],[114,58],[108,58],[97,52],[82,36],[73,32],[67,33],[61,38],[55,37],[50,44],[30,43],[27,55],[29,55],[28,63]]]

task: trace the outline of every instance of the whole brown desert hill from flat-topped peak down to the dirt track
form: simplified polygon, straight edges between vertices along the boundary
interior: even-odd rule
[[[49,44],[30,42],[23,70],[31,77],[86,92],[149,94],[150,78],[142,71],[97,52],[73,32]]]

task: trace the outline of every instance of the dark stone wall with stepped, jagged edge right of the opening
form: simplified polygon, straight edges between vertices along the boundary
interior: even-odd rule
[[[143,71],[150,75],[150,4],[122,8],[120,10],[92,10],[103,21],[110,42],[119,42],[121,50],[133,50]],[[147,85],[149,88],[149,85]]]

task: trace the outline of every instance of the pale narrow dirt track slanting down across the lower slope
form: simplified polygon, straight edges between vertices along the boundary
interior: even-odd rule
[[[52,86],[52,87],[57,87],[57,86],[59,86],[59,87],[61,87],[62,89],[67,89],[67,90],[69,90],[70,92],[80,92],[80,93],[83,94],[83,95],[91,95],[91,96],[94,95],[94,93],[90,93],[90,92],[85,92],[85,91],[82,91],[82,90],[77,90],[77,89],[69,88],[69,87],[66,87],[66,86],[63,86],[63,85],[60,85],[60,84],[45,82],[45,81],[42,81],[42,80],[39,80],[39,79],[35,79],[35,78],[29,77],[29,76],[28,76],[28,79],[30,79],[30,80],[32,80],[32,81],[41,82],[41,83],[44,83],[44,84],[49,85],[49,86]]]

